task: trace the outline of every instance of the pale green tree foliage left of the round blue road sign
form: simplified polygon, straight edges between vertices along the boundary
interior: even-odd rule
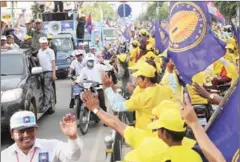
[[[84,4],[81,12],[85,15],[92,14],[92,20],[101,20],[101,10],[103,20],[115,20],[117,18],[116,11],[113,10],[112,6],[107,2],[95,2],[93,4]]]

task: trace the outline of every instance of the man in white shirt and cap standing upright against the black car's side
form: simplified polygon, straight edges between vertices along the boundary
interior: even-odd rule
[[[48,47],[48,40],[46,37],[39,39],[40,49],[38,51],[38,60],[40,66],[43,69],[43,80],[44,80],[44,98],[43,105],[40,109],[41,112],[48,110],[52,105],[51,93],[52,83],[56,80],[56,62],[54,51]]]

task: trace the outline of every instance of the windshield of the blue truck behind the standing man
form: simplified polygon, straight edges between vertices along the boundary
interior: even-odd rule
[[[73,43],[69,38],[55,38],[52,41],[57,46],[57,51],[73,51]]]

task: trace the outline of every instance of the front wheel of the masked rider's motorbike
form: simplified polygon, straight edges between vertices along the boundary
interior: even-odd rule
[[[84,107],[83,110],[80,110],[79,130],[82,135],[85,135],[88,131],[90,115],[91,115],[91,112],[87,108]]]

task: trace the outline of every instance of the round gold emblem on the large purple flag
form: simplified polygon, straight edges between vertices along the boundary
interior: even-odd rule
[[[207,32],[202,9],[192,2],[177,2],[170,11],[169,50],[183,52],[196,47]]]

